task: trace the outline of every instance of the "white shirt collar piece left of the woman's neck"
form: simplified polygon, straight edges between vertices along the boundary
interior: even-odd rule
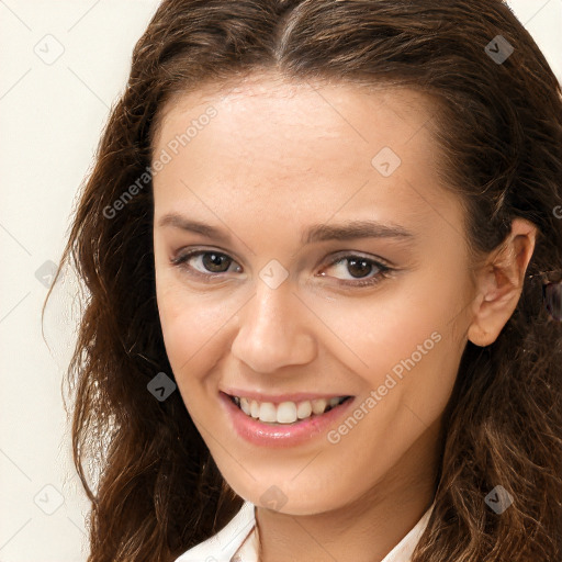
[[[181,554],[176,562],[229,562],[255,525],[255,505],[245,502],[223,529]]]

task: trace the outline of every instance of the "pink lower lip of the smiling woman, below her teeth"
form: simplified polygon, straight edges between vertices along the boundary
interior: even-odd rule
[[[294,424],[270,425],[247,416],[224,392],[218,393],[228,412],[236,432],[247,441],[260,447],[294,447],[324,435],[353,403],[353,397],[321,416],[312,416]]]

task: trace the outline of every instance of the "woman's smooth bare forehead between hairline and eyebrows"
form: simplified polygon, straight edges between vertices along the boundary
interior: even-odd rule
[[[201,119],[209,108],[214,116]],[[155,177],[155,201],[191,211],[193,193],[204,192],[215,209],[259,213],[266,204],[295,220],[361,209],[411,222],[454,215],[426,126],[435,109],[414,90],[276,75],[207,85],[164,108],[156,157],[190,126],[194,134]]]

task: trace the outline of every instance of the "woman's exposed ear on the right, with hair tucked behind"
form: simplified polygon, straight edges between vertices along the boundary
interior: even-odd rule
[[[514,313],[522,291],[525,272],[535,251],[537,227],[514,218],[512,232],[498,250],[476,272],[476,297],[468,338],[476,346],[493,344]]]

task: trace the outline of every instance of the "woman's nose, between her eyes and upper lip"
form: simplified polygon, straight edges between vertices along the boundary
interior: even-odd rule
[[[289,282],[276,289],[258,282],[256,294],[238,314],[232,353],[255,372],[305,364],[316,357],[314,314],[293,294]]]

